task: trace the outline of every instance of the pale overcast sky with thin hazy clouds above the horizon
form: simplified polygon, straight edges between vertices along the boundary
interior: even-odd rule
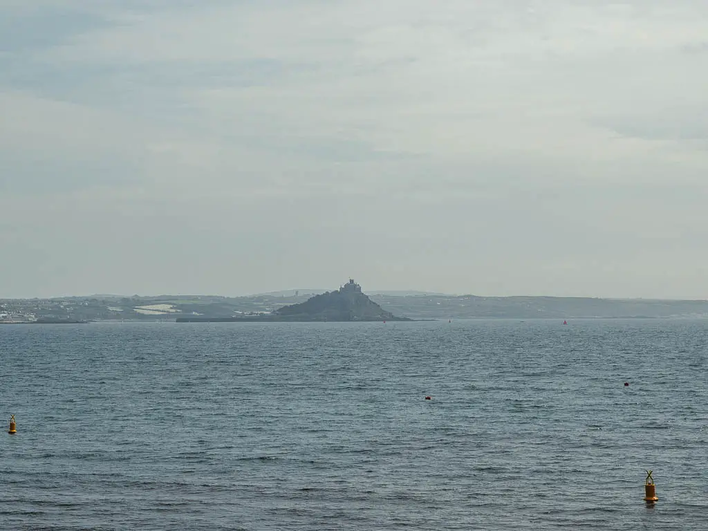
[[[0,0],[0,298],[708,298],[704,0]]]

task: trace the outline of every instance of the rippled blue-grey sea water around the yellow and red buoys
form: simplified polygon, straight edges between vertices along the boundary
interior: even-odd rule
[[[708,321],[0,326],[0,357],[6,529],[708,529]]]

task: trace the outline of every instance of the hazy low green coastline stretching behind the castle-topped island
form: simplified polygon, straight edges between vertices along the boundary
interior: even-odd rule
[[[58,297],[0,299],[0,324],[84,324],[86,322],[222,322],[393,321],[447,319],[705,319],[708,301],[659,299],[593,299],[589,297],[479,297],[478,295],[367,295],[384,314],[364,315],[336,307],[324,314],[311,307],[304,315],[276,317],[284,307],[298,309],[312,299],[312,290],[287,295],[223,297],[219,295],[159,295],[121,297]],[[317,299],[322,302],[323,299]],[[362,299],[363,301],[363,299]],[[316,304],[319,304],[317,302]],[[315,304],[314,302],[311,304]],[[368,304],[368,303],[367,303]],[[299,307],[304,309],[304,307]],[[371,307],[370,309],[373,309]],[[378,312],[378,310],[377,310]],[[218,321],[216,321],[218,322]]]

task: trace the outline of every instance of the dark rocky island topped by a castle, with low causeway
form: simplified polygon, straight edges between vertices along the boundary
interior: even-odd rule
[[[227,323],[238,321],[411,321],[407,317],[396,317],[387,312],[365,295],[361,286],[349,279],[345,285],[333,292],[314,295],[305,302],[290,304],[276,309],[270,314],[243,316],[190,316],[178,317],[178,323]]]

